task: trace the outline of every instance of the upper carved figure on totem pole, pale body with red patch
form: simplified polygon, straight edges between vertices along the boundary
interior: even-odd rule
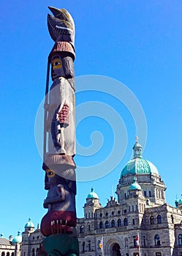
[[[53,84],[49,92],[48,154],[75,155],[75,88],[72,57],[50,55]]]

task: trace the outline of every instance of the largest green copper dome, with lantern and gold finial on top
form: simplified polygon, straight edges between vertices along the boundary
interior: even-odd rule
[[[126,174],[158,174],[159,172],[156,169],[155,165],[143,158],[142,155],[142,146],[136,141],[133,147],[134,157],[132,160],[127,162],[124,169],[121,171],[121,176]]]

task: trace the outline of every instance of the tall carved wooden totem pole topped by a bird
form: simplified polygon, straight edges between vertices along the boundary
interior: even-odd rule
[[[75,25],[64,9],[49,7],[48,30],[55,44],[48,56],[45,89],[44,200],[47,214],[41,232],[46,236],[39,255],[78,256],[75,177]],[[49,89],[51,67],[52,86]]]

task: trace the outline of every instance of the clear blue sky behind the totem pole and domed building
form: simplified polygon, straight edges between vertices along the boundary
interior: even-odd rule
[[[182,193],[181,1],[3,1],[0,233],[16,236],[18,230],[23,231],[29,217],[37,226],[46,212],[42,203],[47,192],[42,159],[34,139],[34,122],[45,94],[47,58],[53,46],[47,28],[48,5],[66,8],[75,20],[76,75],[114,78],[139,100],[148,125],[143,157],[158,168],[167,187],[167,203],[174,205],[176,195],[181,197]],[[105,84],[102,90],[105,91]],[[115,87],[113,93],[121,97]],[[102,119],[102,113],[99,117],[90,116],[78,125],[77,142],[89,147],[91,133],[99,131],[103,145],[91,157],[76,156],[75,162],[80,167],[97,165],[120,140],[121,149],[122,140],[126,143],[126,152],[112,172],[106,170],[107,176],[77,182],[78,217],[83,216],[83,205],[91,187],[105,206],[131,157],[137,133],[132,114],[117,99],[98,91],[77,94],[77,105],[93,100],[115,109],[124,121],[127,138],[121,129],[121,138],[113,140],[115,130],[110,121]],[[119,127],[117,118],[114,123]],[[139,137],[143,138],[141,132]],[[117,151],[121,153],[120,147]],[[112,155],[113,162],[115,157],[117,153]]]

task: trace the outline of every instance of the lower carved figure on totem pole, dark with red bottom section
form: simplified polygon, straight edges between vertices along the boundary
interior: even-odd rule
[[[48,208],[48,213],[42,218],[42,235],[74,233],[72,227],[76,226],[76,182],[56,175],[53,170],[47,170],[46,175],[49,190],[44,208]]]

